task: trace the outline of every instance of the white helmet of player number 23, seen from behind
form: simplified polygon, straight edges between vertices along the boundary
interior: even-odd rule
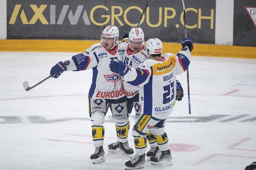
[[[160,39],[148,39],[146,41],[145,50],[149,50],[150,54],[161,54],[163,51],[163,44]]]

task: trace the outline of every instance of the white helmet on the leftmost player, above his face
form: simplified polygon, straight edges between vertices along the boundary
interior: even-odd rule
[[[114,46],[115,46],[118,42],[118,36],[119,36],[119,29],[116,26],[109,25],[102,31],[100,39],[102,41],[103,37],[113,38]]]

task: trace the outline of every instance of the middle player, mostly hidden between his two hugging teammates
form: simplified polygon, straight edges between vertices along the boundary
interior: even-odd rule
[[[123,38],[125,38],[126,35],[127,34],[125,34]],[[126,52],[124,52],[122,61],[125,64],[128,64],[129,67],[136,68],[139,66],[139,64],[143,63],[143,61],[149,58],[147,53],[145,53],[144,51],[144,33],[142,28],[132,28],[131,31],[128,33],[127,38],[128,38],[128,43],[127,43]],[[134,107],[135,117],[138,118],[140,115],[139,88],[136,86],[130,85],[126,81],[123,81],[123,84],[124,84],[124,91],[125,91],[125,96],[127,100],[128,113],[131,114],[132,108]],[[180,89],[180,92],[183,90],[181,85],[179,86],[179,89]],[[150,150],[146,153],[146,156],[148,160],[150,160],[151,156],[155,156],[157,152],[159,152],[159,148],[157,147],[156,139],[154,135],[151,133],[151,131],[149,131],[146,134],[146,139],[150,144]],[[118,148],[120,148],[118,142],[114,142],[108,145],[108,152],[115,152],[117,151]]]

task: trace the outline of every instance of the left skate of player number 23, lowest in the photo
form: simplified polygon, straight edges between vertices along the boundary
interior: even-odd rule
[[[143,168],[143,164],[145,163],[145,153],[141,156],[136,155],[131,160],[125,163],[125,170],[136,170]]]

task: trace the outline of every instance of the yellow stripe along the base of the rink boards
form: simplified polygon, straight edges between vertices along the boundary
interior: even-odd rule
[[[0,51],[83,52],[94,40],[0,39]],[[163,53],[178,53],[180,43],[163,43]],[[194,43],[192,56],[256,59],[256,47]]]

